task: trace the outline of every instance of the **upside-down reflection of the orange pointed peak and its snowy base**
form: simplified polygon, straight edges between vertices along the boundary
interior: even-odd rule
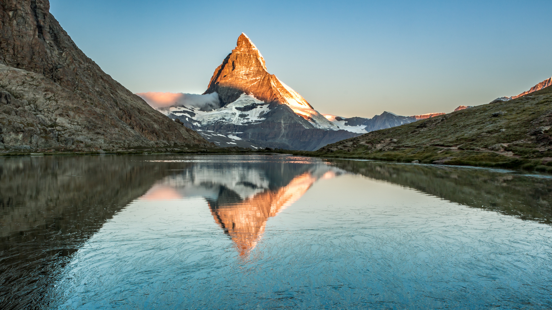
[[[305,158],[236,162],[231,168],[226,163],[198,162],[153,185],[141,199],[205,199],[215,223],[246,258],[262,238],[270,217],[300,199],[317,180],[343,172]]]

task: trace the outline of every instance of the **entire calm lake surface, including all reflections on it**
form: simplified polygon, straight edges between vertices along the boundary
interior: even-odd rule
[[[2,309],[550,309],[552,179],[282,155],[0,158]]]

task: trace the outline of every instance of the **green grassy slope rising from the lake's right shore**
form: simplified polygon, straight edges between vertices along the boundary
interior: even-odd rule
[[[498,111],[506,114],[491,117]],[[548,87],[517,99],[365,133],[312,155],[551,171],[551,125]]]

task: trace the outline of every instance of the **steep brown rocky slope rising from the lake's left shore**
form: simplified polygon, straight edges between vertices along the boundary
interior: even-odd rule
[[[104,73],[49,8],[0,2],[0,151],[214,147]]]

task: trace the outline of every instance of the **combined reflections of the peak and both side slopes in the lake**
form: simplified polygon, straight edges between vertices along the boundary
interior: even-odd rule
[[[48,308],[54,285],[65,279],[73,257],[136,201],[162,206],[167,200],[187,204],[187,199],[200,199],[212,216],[214,236],[225,239],[221,237],[226,234],[246,261],[259,251],[253,249],[270,231],[271,217],[293,205],[317,180],[342,174],[552,222],[551,179],[505,170],[280,155],[3,157],[0,308]],[[366,204],[371,198],[364,193],[358,197]]]

